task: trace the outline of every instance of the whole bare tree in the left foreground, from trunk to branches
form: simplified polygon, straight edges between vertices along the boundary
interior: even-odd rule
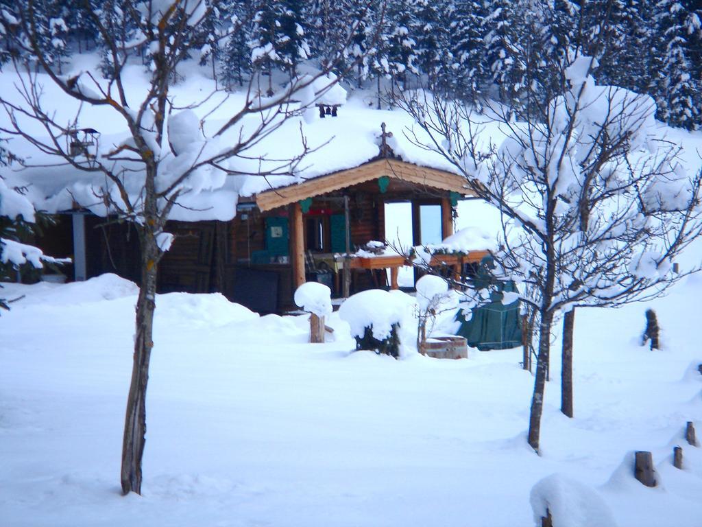
[[[249,152],[286,119],[305,110],[294,101],[300,94],[305,94],[307,103],[314,104],[315,95],[309,93],[313,83],[324,77],[323,92],[336,82],[331,80],[336,79],[333,76],[327,82],[326,74],[340,64],[343,47],[326,58],[324,70],[291,79],[274,96],[261,94],[256,86],[260,75],[253,74],[239,110],[229,115],[213,136],[207,137],[204,124],[214,112],[200,120],[192,111],[197,104],[176,108],[170,88],[178,77],[179,65],[188,58],[199,41],[197,36],[205,30],[212,4],[204,0],[108,0],[102,7],[97,10],[92,2],[85,0],[77,9],[97,27],[107,50],[102,65],[104,78],[92,72],[66,78],[55,72],[42,51],[34,0],[20,2],[12,19],[17,27],[7,34],[17,35],[13,44],[21,50],[15,53],[18,73],[15,86],[21,102],[0,96],[0,104],[9,122],[4,131],[69,165],[77,174],[100,176],[104,183],[93,185],[95,198],[105,205],[109,214],[133,222],[138,232],[141,280],[121,463],[121,488],[127,494],[141,492],[145,395],[154,346],[157,268],[172,240],[164,230],[168,216],[173,207],[179,206],[179,200],[194,192],[196,176],[199,181],[206,178],[216,187],[223,183],[223,175],[242,174],[232,160],[248,160],[258,166],[267,161],[268,168],[256,171],[260,176],[292,174],[310,152],[304,138],[299,155],[292,159],[257,162],[256,155],[252,157]],[[355,25],[350,23],[349,35],[354,30]],[[130,97],[124,67],[143,50],[150,58],[150,80],[144,96]],[[20,62],[18,57],[25,60]],[[41,82],[37,72],[42,75]],[[69,98],[79,101],[80,110],[72,123],[58,122],[51,103],[45,100],[41,84],[47,77]],[[200,104],[210,97],[211,94],[204,96]],[[81,118],[95,107],[109,108],[114,118],[124,123],[128,129],[125,141],[107,149],[79,141],[77,129]],[[247,117],[250,118],[244,126]],[[27,119],[41,124],[42,136],[29,131]],[[224,134],[227,141],[216,144]]]

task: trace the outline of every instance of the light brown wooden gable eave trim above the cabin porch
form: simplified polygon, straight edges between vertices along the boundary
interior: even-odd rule
[[[465,178],[458,174],[420,167],[399,160],[380,159],[352,169],[312,178],[304,183],[266,190],[256,195],[256,204],[261,211],[267,211],[383,176],[461,195],[475,195],[472,190],[465,187]]]

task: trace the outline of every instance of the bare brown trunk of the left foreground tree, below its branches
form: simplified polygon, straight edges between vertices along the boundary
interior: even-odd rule
[[[124,495],[131,492],[141,494],[141,460],[146,442],[146,386],[149,381],[149,360],[154,346],[152,334],[159,249],[152,232],[140,233],[140,240],[142,281],[136,304],[134,363],[122,443],[121,486]]]

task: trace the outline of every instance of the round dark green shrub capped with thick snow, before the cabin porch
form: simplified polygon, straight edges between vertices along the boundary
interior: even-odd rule
[[[399,327],[406,305],[398,295],[369,289],[341,304],[339,316],[351,326],[356,349],[374,349],[399,357]]]

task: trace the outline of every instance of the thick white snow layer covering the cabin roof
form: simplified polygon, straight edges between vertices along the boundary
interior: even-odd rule
[[[84,60],[89,58],[90,56]],[[83,64],[81,70],[86,69],[89,67],[86,68],[86,64]],[[73,72],[69,72],[70,74]],[[142,68],[130,66],[125,76],[129,90],[128,98],[131,96],[133,100],[139,100],[139,92],[145,89]],[[173,86],[171,91],[174,103],[180,107],[195,100],[204,99],[212,84],[211,80],[201,77],[199,70],[194,70],[194,73],[186,78],[183,84]],[[44,86],[44,104],[48,110],[55,112],[56,122],[67,123],[74,119],[78,108],[77,101],[60,91],[48,77],[39,75],[38,79]],[[13,90],[10,86],[16,80],[14,72],[0,72],[0,86],[4,86],[6,91]],[[317,91],[316,86],[315,91]],[[19,95],[15,97],[19,102]],[[324,99],[327,98],[330,101],[333,99],[335,103],[341,103],[342,99],[345,99],[345,92],[337,85],[324,94]],[[232,127],[215,140],[211,139],[223,123],[241,108],[243,101],[242,94],[218,93],[206,104],[193,110],[194,115],[201,119],[212,112],[216,105],[220,105],[212,115],[207,117],[203,131],[194,131],[194,134],[190,131],[185,134],[185,137],[176,137],[176,134],[171,133],[174,139],[183,145],[187,145],[187,141],[200,141],[198,144],[207,143],[208,148],[227,148],[237,141],[241,130],[246,133],[247,130],[258,126],[260,122],[260,116],[249,115],[243,119],[240,126]],[[175,113],[171,119],[174,119]],[[7,124],[6,116],[0,116],[0,120],[4,121],[2,124]],[[190,128],[197,126],[198,123],[198,119],[192,117],[182,120],[189,123]],[[228,175],[216,170],[208,174],[197,174],[193,188],[179,199],[179,203],[183,206],[174,207],[171,219],[226,221],[236,214],[237,200],[240,196],[251,197],[271,188],[291,186],[369,162],[378,157],[380,126],[383,122],[387,130],[392,132],[392,138],[388,138],[388,144],[395,155],[402,160],[432,169],[455,171],[441,155],[413,145],[406,134],[406,131],[413,128],[413,119],[406,112],[376,110],[370,108],[363,98],[352,97],[338,110],[338,117],[321,119],[317,109],[312,108],[310,112],[305,112],[305,115],[287,119],[272,134],[247,150],[246,157],[237,157],[230,161],[228,168],[238,173],[237,175]],[[128,141],[129,138],[124,120],[112,108],[84,108],[77,124],[81,128],[91,127],[100,132],[97,148],[102,154],[114,150],[117,145]],[[46,131],[36,122],[25,122],[22,125],[33,134],[46,136]],[[312,151],[297,165],[294,174],[265,178],[256,175],[261,171],[280,167],[284,164],[280,160],[299,156],[303,152],[303,141]],[[25,158],[27,167],[15,169],[14,172],[6,174],[8,185],[28,186],[29,197],[37,209],[60,212],[72,209],[75,203],[79,203],[95,214],[106,214],[104,204],[96,197],[100,194],[96,189],[105,186],[106,183],[103,174],[76,169],[62,163],[56,157],[39,152],[29,143],[22,143],[19,138],[13,138],[10,148],[17,155]],[[193,150],[197,151],[197,148]],[[166,160],[164,163],[168,162],[172,162],[174,167],[177,165],[175,159]],[[139,166],[133,164],[133,168]],[[134,177],[133,181],[129,181],[127,176],[126,188],[132,195],[138,195],[140,178]]]

